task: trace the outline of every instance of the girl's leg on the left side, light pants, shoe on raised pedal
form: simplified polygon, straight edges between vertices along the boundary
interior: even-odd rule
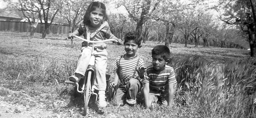
[[[75,76],[69,77],[69,80],[78,82],[82,76],[84,76],[87,66],[89,64],[89,60],[92,55],[92,47],[83,47],[81,49],[81,54],[79,60],[77,62]]]

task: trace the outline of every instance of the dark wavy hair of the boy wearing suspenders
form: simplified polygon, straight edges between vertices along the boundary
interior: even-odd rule
[[[139,32],[137,31],[132,31],[128,32],[124,35],[124,43],[128,41],[134,41],[138,46],[141,44],[142,37]]]

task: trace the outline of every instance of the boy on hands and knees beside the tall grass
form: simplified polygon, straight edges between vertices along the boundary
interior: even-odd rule
[[[166,65],[170,55],[167,46],[158,45],[152,49],[152,64],[148,66],[143,79],[146,110],[154,102],[168,108],[172,107],[174,84],[177,81],[173,68]]]

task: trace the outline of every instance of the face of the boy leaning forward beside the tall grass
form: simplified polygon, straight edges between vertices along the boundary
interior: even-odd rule
[[[152,64],[156,71],[164,70],[164,65],[168,62],[164,60],[162,55],[152,55]]]

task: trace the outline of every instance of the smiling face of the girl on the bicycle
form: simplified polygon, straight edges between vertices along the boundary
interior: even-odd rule
[[[100,8],[97,8],[96,10],[90,13],[90,17],[89,17],[91,21],[90,25],[94,27],[100,27],[102,24],[103,18],[104,18],[104,13]]]

